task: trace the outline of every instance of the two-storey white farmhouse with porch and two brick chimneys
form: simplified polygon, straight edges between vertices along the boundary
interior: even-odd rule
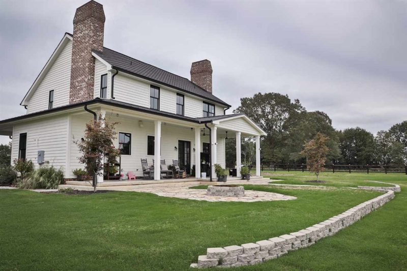
[[[20,104],[26,114],[0,121],[0,134],[12,138],[12,160],[30,159],[38,168],[43,165],[38,151],[43,151],[45,165],[74,178],[72,170],[83,168],[74,139],[83,137],[95,112],[120,122],[114,145],[122,149],[124,174],[142,176],[141,159],[149,164],[165,159],[167,164],[179,160],[188,173],[198,165],[197,178],[201,169],[215,176],[213,165],[225,166],[225,138],[232,137],[239,169],[240,137],[254,136],[260,175],[265,132],[244,114],[225,114],[230,106],[213,95],[210,61],[192,63],[188,80],[103,47],[104,22],[101,4],[79,7],[73,35],[63,36]],[[154,178],[160,179],[159,167]]]

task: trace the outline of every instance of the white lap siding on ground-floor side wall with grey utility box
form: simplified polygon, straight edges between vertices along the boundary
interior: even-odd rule
[[[21,133],[27,133],[26,159],[37,163],[38,150],[44,150],[44,165],[62,168],[66,167],[68,117],[56,116],[46,120],[32,121],[14,126],[12,160],[18,158],[19,139]]]

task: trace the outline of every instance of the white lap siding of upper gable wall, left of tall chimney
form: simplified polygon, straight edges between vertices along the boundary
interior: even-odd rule
[[[69,104],[71,54],[72,41],[69,41],[28,101],[27,113],[47,110],[49,92],[52,90],[54,91],[54,108]]]

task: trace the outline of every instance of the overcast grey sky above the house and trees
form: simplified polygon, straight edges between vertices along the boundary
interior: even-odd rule
[[[186,78],[209,59],[213,92],[232,109],[278,92],[336,129],[407,120],[405,1],[99,2],[105,47]],[[19,103],[84,3],[0,0],[0,119],[25,113]]]

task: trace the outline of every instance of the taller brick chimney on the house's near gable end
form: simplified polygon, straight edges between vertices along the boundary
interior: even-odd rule
[[[70,104],[93,99],[95,58],[92,50],[103,49],[104,25],[105,13],[101,4],[92,0],[76,9],[73,18]]]

